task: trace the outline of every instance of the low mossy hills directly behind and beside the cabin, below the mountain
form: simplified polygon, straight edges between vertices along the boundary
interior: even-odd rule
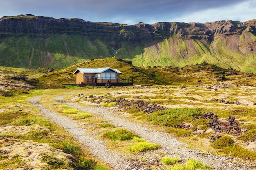
[[[256,74],[223,69],[207,63],[177,67],[135,67],[117,57],[86,60],[67,68],[36,70],[0,66],[0,96],[13,96],[31,89],[60,88],[75,83],[73,74],[77,68],[117,68],[120,78],[132,77],[134,85],[186,85],[206,86],[255,85]]]

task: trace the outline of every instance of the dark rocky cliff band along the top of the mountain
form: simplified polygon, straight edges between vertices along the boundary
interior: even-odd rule
[[[187,39],[209,39],[214,35],[238,34],[246,30],[256,33],[255,20],[248,22],[239,21],[216,21],[200,23],[180,23],[180,22],[158,22],[153,25],[139,23],[135,25],[88,22],[82,19],[54,19],[52,17],[18,15],[17,17],[2,17],[0,19],[0,31],[4,33],[33,33],[33,34],[55,34],[67,33],[85,36],[109,36],[121,37],[124,41],[143,40],[144,37],[151,39],[166,37],[166,35],[178,34]],[[126,35],[130,39],[124,39]],[[160,37],[161,37],[160,36]]]

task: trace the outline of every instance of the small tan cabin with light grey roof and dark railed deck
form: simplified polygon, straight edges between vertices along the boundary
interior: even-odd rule
[[[120,78],[122,74],[113,68],[78,68],[73,73],[76,74],[76,84],[78,85],[105,85],[108,81],[112,85],[132,85],[132,78]]]

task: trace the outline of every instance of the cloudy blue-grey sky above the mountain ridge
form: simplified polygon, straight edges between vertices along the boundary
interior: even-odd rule
[[[1,0],[0,17],[33,14],[92,22],[213,22],[256,19],[256,0]]]

